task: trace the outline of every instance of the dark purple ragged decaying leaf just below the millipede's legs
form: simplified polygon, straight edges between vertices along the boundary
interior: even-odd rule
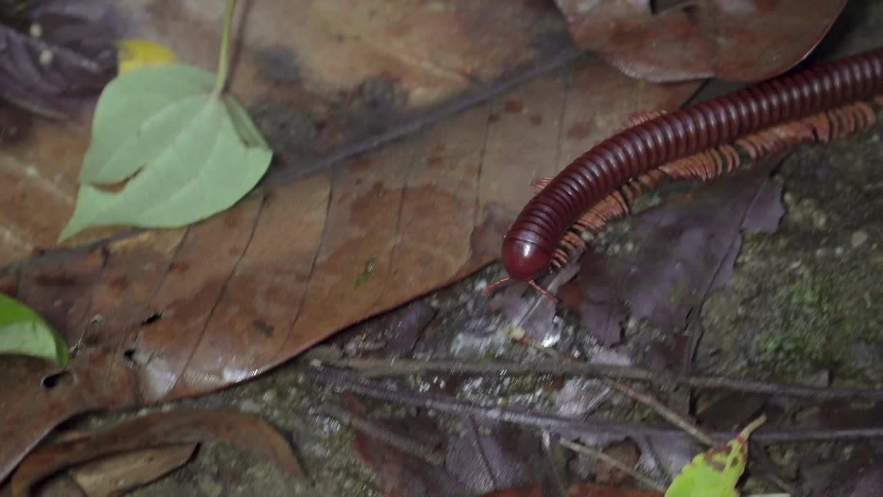
[[[680,330],[691,310],[732,276],[742,230],[774,231],[784,214],[769,166],[718,180],[638,213],[620,256],[583,257],[574,279],[585,324],[603,343],[622,340],[628,318]]]

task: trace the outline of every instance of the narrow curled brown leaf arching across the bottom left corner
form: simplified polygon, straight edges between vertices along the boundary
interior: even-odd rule
[[[270,457],[282,470],[304,478],[291,446],[266,421],[237,411],[178,409],[138,417],[86,438],[41,447],[28,455],[12,475],[12,496],[22,495],[43,478],[80,463],[134,450],[206,440],[223,441]]]

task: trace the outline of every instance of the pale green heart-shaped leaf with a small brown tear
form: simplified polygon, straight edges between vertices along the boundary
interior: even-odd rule
[[[59,241],[90,226],[185,226],[229,208],[267,172],[272,151],[215,75],[152,65],[104,88]],[[124,181],[117,191],[102,189]]]

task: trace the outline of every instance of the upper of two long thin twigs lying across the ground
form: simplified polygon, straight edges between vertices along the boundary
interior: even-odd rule
[[[812,399],[816,401],[867,400],[883,401],[883,389],[835,388],[802,386],[782,383],[768,383],[750,379],[725,377],[684,377],[633,366],[615,364],[571,363],[559,361],[531,361],[525,363],[503,363],[495,361],[462,362],[455,360],[412,361],[407,359],[341,359],[336,361],[315,361],[316,365],[358,370],[367,377],[395,377],[424,373],[447,374],[554,374],[562,376],[585,376],[592,378],[625,379],[644,381],[655,386],[668,387],[672,384],[713,390],[730,390],[760,395],[778,395]]]

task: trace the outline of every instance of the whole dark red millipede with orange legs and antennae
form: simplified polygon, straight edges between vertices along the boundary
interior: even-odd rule
[[[672,112],[648,112],[600,141],[532,197],[502,240],[510,279],[535,279],[585,247],[583,233],[628,215],[666,178],[714,180],[803,143],[827,143],[876,122],[883,104],[883,49],[761,81]],[[743,159],[746,157],[746,159]]]

